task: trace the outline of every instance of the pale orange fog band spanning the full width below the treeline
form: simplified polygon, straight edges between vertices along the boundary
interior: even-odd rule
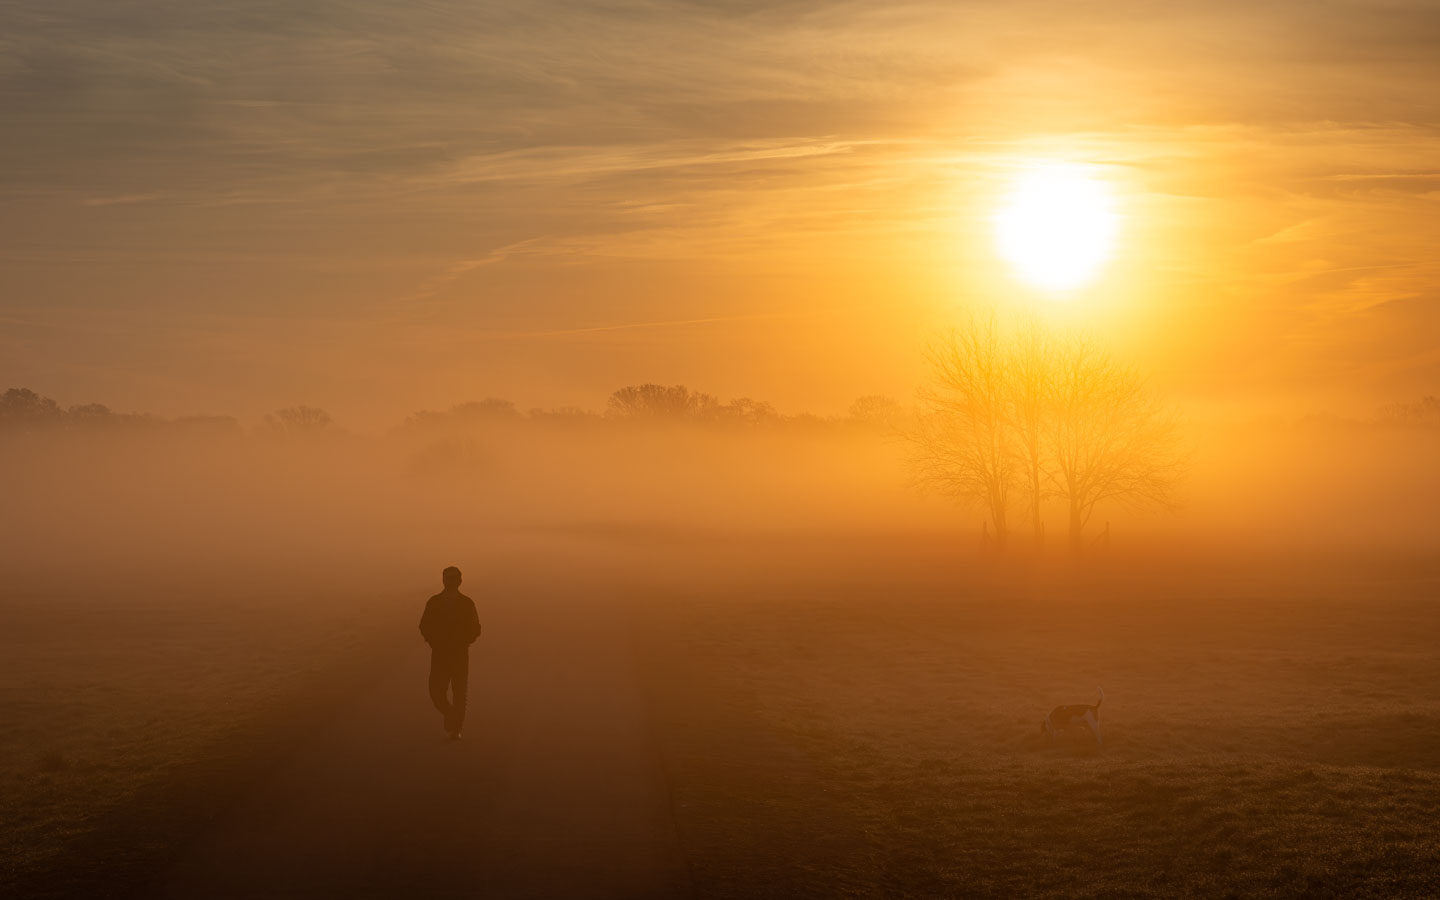
[[[1434,428],[1195,425],[1174,511],[1099,507],[1089,553],[1433,552]],[[363,573],[590,547],[658,564],[684,544],[832,537],[953,546],[984,514],[912,485],[906,442],[854,422],[766,426],[514,418],[357,436],[132,428],[0,435],[3,564]],[[1045,556],[1063,560],[1048,500]],[[1012,523],[1012,527],[1014,523]],[[1109,530],[1109,546],[1099,541]],[[1017,553],[1030,536],[1014,533]],[[629,554],[629,556],[626,556]]]

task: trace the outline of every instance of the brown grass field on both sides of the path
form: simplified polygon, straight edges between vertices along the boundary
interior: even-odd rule
[[[904,541],[546,540],[484,580],[631,616],[701,897],[1440,894],[1433,563],[1027,575]],[[12,590],[0,894],[144,883],[413,641],[413,586],[253,580]],[[1047,744],[1044,713],[1097,685],[1104,747]]]

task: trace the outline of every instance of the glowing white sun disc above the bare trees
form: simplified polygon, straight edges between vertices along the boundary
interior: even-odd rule
[[[1115,249],[1110,186],[1081,166],[1024,170],[995,212],[995,246],[1024,281],[1063,297],[1093,279]]]

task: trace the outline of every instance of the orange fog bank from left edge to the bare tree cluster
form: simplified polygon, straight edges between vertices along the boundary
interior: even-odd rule
[[[328,569],[549,534],[942,527],[871,435],[531,422],[305,439],[56,431],[3,442],[7,566]],[[432,564],[433,563],[433,564]]]

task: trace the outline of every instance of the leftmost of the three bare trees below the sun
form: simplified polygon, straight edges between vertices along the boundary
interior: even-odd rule
[[[916,482],[989,513],[994,547],[1009,534],[1007,510],[1015,482],[1015,432],[1008,354],[994,320],[952,333],[929,351],[930,384],[919,395],[910,431]]]

